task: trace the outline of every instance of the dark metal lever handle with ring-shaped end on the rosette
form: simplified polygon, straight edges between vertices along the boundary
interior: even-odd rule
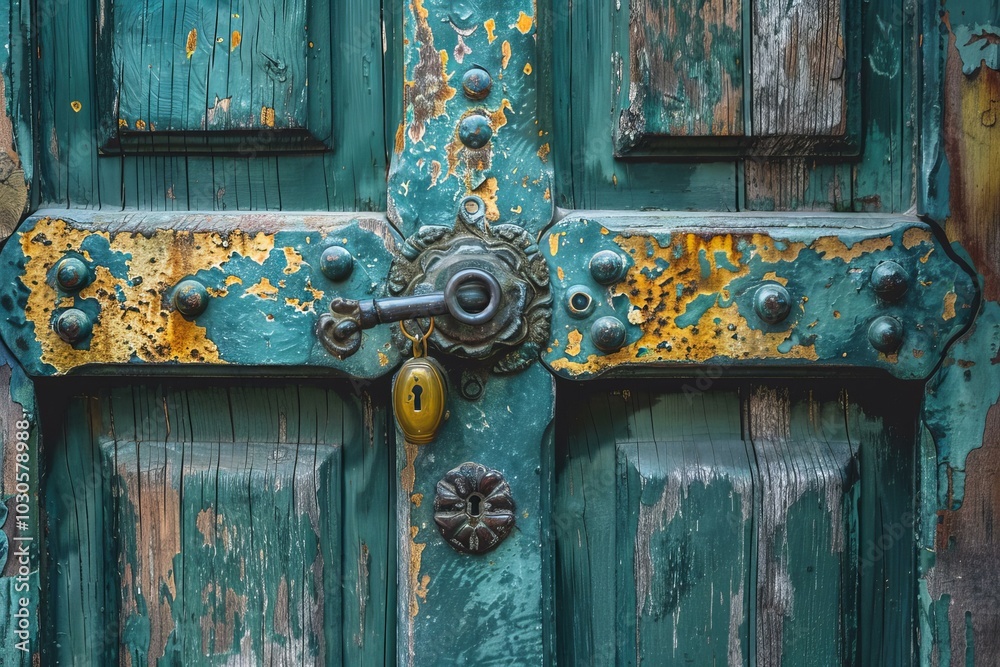
[[[468,268],[455,273],[441,292],[360,301],[337,297],[330,302],[330,312],[320,316],[317,335],[327,350],[345,359],[361,347],[364,329],[446,314],[463,324],[482,325],[499,312],[501,300],[495,277]]]

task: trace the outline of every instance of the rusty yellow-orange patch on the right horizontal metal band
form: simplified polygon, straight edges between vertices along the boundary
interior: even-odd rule
[[[558,250],[558,236],[549,237],[552,255]],[[743,247],[749,246],[751,250],[739,249],[744,240],[747,244]],[[779,352],[778,347],[788,338],[788,332],[766,333],[751,327],[740,315],[728,291],[734,279],[749,274],[749,253],[762,255],[765,261],[792,261],[805,244],[776,245],[763,234],[704,237],[694,233],[675,234],[663,247],[646,236],[618,236],[615,243],[632,257],[634,266],[625,280],[612,287],[611,294],[629,300],[628,319],[640,327],[642,335],[638,341],[617,352],[592,354],[583,361],[572,361],[571,352],[578,352],[578,349],[573,332],[570,332],[566,355],[552,362],[554,369],[580,375],[597,373],[610,366],[677,358],[695,363],[716,357],[817,358],[811,344],[793,345],[787,352]],[[702,259],[710,264],[704,278],[701,277]],[[662,270],[662,260],[670,263],[668,273]],[[732,267],[736,267],[735,270]],[[678,280],[682,281],[679,297]],[[696,301],[703,303],[699,297],[712,295],[720,298],[704,310],[697,322],[683,328],[678,326],[677,318],[687,314]],[[657,307],[661,308],[657,310]],[[660,347],[664,344],[670,349]]]

